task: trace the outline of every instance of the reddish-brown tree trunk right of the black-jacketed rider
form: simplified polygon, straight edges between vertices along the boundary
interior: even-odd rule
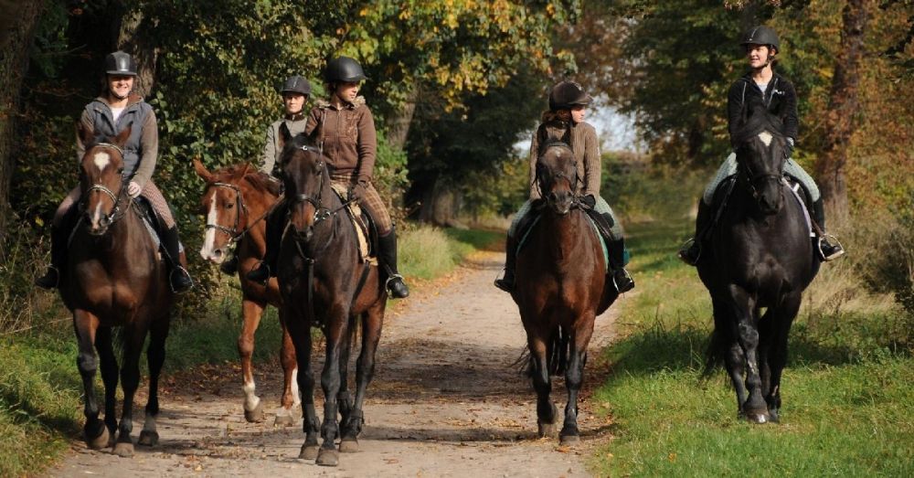
[[[838,222],[843,222],[849,214],[845,164],[847,147],[858,123],[864,32],[873,6],[873,0],[848,0],[842,13],[841,47],[834,61],[825,143],[815,163],[825,208]]]

